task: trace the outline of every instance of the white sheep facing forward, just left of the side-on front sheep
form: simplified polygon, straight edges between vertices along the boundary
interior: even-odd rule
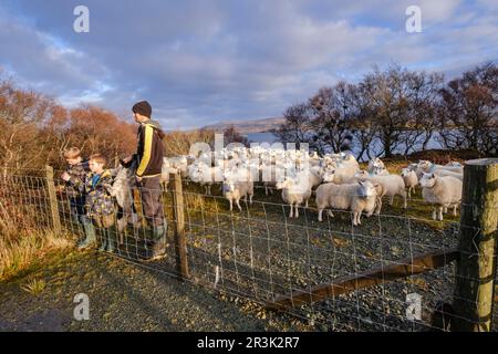
[[[282,181],[277,183],[277,189],[282,190],[282,199],[290,206],[289,218],[299,218],[298,207],[305,202],[308,208],[311,197],[311,186],[308,178],[299,175],[295,177],[288,176]],[[295,214],[293,209],[295,209]]]

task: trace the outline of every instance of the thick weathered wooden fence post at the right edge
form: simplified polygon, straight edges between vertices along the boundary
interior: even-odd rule
[[[497,222],[498,158],[469,160],[464,169],[452,331],[491,330]]]

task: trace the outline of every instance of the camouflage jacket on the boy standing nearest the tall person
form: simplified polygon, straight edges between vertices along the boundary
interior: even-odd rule
[[[114,199],[111,196],[113,177],[108,169],[101,177],[94,173],[85,175],[84,179],[71,178],[70,183],[81,194],[85,194],[85,210],[89,217],[112,215],[114,212]]]

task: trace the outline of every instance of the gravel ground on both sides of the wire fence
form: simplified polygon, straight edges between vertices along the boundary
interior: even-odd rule
[[[266,311],[262,303],[290,290],[455,247],[458,226],[455,219],[438,225],[417,219],[416,202],[408,211],[385,206],[382,216],[352,227],[349,212],[318,222],[312,205],[289,219],[280,192],[266,197],[258,190],[256,199],[264,202],[243,212],[230,212],[215,194],[185,198],[194,283],[170,277],[173,247],[164,260],[136,266],[148,236],[128,230],[118,257],[70,252],[0,283],[0,331],[426,331],[436,303],[452,302],[453,264],[284,314]],[[165,211],[172,222],[168,195]],[[168,233],[172,243],[172,228]],[[22,289],[33,279],[45,282],[39,294]],[[76,293],[90,296],[90,321],[73,320]],[[422,319],[415,322],[406,320],[411,293],[422,296]]]

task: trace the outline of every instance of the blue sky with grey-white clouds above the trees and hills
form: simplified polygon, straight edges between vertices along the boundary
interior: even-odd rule
[[[90,33],[73,9],[90,9]],[[422,10],[407,33],[405,9]],[[0,66],[62,104],[131,118],[148,100],[165,128],[280,116],[374,64],[454,75],[498,60],[496,0],[0,0]]]

